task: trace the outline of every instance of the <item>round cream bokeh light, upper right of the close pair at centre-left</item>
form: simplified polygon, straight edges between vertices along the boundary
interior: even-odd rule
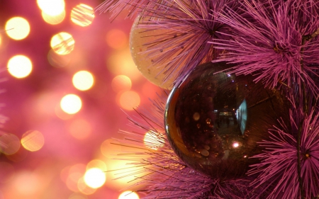
[[[94,77],[90,72],[79,71],[72,78],[73,86],[80,91],[91,89],[94,84]]]

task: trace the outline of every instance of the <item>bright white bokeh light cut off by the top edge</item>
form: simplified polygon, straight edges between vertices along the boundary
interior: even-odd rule
[[[37,0],[39,8],[50,16],[57,16],[65,10],[64,0]]]

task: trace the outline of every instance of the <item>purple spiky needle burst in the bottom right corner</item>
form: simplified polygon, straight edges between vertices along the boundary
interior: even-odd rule
[[[301,109],[291,110],[291,124],[281,123],[281,127],[269,130],[269,140],[260,145],[266,150],[253,158],[260,159],[252,165],[248,175],[259,174],[251,186],[264,187],[267,198],[301,198],[303,187],[305,198],[315,198],[319,194],[319,115],[318,109],[309,114]],[[293,134],[301,131],[300,169],[298,178],[297,140]],[[302,183],[302,186],[299,183]]]

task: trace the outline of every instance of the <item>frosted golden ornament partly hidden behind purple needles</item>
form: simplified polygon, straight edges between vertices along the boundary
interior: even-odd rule
[[[163,50],[147,51],[147,44],[156,42],[159,36],[169,33],[169,30],[147,30],[145,28],[138,28],[138,24],[145,20],[147,20],[147,18],[137,17],[130,30],[130,52],[133,61],[148,81],[163,89],[172,89],[172,84],[174,80],[177,79],[177,74],[169,76],[169,79],[166,79],[168,74],[165,72],[165,64],[171,60],[163,60],[160,65],[153,64]],[[174,55],[172,55],[172,57],[174,57]],[[180,65],[183,66],[184,64],[181,63]],[[180,67],[178,68],[180,69]]]

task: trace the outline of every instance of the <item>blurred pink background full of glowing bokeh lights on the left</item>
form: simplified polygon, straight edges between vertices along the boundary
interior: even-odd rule
[[[106,172],[125,166],[110,139],[160,89],[130,57],[128,11],[102,2],[0,0],[0,199],[139,197]]]

